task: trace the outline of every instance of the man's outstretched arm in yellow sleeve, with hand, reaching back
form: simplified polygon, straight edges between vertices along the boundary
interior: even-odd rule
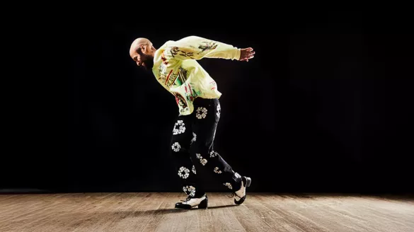
[[[208,40],[203,37],[189,36],[173,42],[166,51],[173,59],[236,59],[248,61],[253,58],[253,49],[239,49],[223,42]]]

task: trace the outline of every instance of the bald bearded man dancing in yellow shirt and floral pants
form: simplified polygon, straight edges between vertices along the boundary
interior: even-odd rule
[[[251,178],[241,177],[214,151],[214,136],[220,117],[217,83],[197,59],[219,58],[246,61],[253,58],[251,47],[238,49],[222,42],[190,36],[168,41],[156,49],[146,38],[132,42],[130,57],[138,66],[151,71],[163,88],[173,94],[179,115],[173,128],[170,149],[183,191],[188,196],[176,203],[177,209],[207,208],[208,197],[197,170],[207,168],[233,192],[234,202],[246,199]],[[199,169],[200,168],[200,169]]]

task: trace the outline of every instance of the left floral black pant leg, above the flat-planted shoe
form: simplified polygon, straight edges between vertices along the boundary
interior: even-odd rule
[[[190,146],[194,141],[190,116],[178,116],[171,137],[170,152],[181,187],[189,197],[205,194],[197,181],[197,175],[190,158]]]

